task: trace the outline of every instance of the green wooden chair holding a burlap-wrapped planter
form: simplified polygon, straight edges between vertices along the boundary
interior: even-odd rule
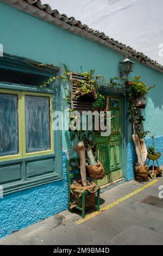
[[[74,179],[81,179],[79,162],[80,162],[79,159],[70,159],[66,161],[67,183],[68,183],[68,206],[71,202],[70,186]],[[90,194],[90,193],[88,191],[84,191],[82,193],[82,208],[79,206],[75,206],[76,209],[82,211],[82,218],[85,218],[85,196],[87,194]],[[97,211],[99,211],[99,201],[100,201],[100,188],[97,191]]]

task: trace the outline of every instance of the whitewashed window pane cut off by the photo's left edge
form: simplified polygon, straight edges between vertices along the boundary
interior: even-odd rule
[[[0,93],[0,156],[18,154],[17,95]]]

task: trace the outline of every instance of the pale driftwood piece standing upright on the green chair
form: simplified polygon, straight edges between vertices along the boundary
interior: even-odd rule
[[[73,148],[75,151],[77,151],[80,159],[80,173],[82,177],[82,186],[86,186],[86,167],[85,167],[85,147],[84,142],[79,142],[76,146]]]

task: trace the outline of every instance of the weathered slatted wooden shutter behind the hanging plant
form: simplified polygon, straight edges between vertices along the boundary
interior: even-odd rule
[[[70,75],[70,92],[71,94],[76,92],[77,86],[75,81],[82,80],[83,76],[77,73],[71,73]],[[92,102],[86,102],[82,99],[71,100],[71,108],[78,111],[92,111]]]

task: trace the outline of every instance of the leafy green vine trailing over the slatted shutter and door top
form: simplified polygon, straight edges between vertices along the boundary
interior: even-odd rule
[[[66,65],[64,65],[64,68],[65,71],[61,76],[53,76],[52,78],[49,78],[40,87],[49,87],[50,83],[57,79],[61,79],[63,82],[70,81],[71,72],[67,69]],[[140,81],[141,76],[135,76],[133,81],[128,82],[130,86],[126,87],[123,83],[121,83],[121,78],[114,77],[107,81],[102,75],[93,76],[94,71],[95,70],[79,72],[79,79],[71,78],[71,82],[76,85],[77,89],[73,94],[70,94],[70,91],[65,89],[66,96],[64,99],[64,101],[70,106],[70,111],[73,111],[73,109],[71,109],[71,100],[77,100],[80,96],[89,95],[95,99],[97,99],[97,96],[99,96],[104,99],[104,96],[99,93],[99,88],[102,86],[121,89],[122,94],[126,95],[128,99],[128,115],[130,117],[129,121],[135,125],[135,130],[139,138],[144,138],[149,133],[149,131],[142,131],[142,123],[145,121],[145,117],[137,108],[136,100],[140,97],[145,99],[148,91],[155,86],[147,87],[145,82]],[[79,137],[80,135],[78,133],[79,131],[74,131],[72,139]],[[87,135],[85,134],[83,136]]]

